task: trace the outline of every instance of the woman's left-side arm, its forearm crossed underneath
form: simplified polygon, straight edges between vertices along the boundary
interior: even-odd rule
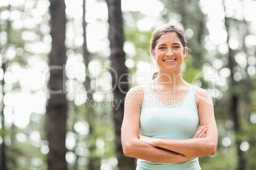
[[[154,162],[183,162],[189,160],[189,157],[153,147],[139,140],[139,116],[143,98],[143,88],[141,87],[132,88],[125,98],[124,121],[121,130],[124,155]]]

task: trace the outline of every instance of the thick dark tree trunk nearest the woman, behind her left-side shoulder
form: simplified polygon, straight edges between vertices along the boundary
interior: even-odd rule
[[[115,143],[118,167],[122,169],[135,169],[135,159],[125,157],[121,143],[121,126],[124,118],[124,98],[128,91],[127,67],[125,66],[124,30],[120,0],[106,0],[108,4],[108,23],[110,25],[108,37],[110,39],[110,61],[113,70],[110,70],[113,87],[113,117],[115,122]],[[117,86],[118,85],[118,86]],[[120,103],[118,105],[117,103]]]

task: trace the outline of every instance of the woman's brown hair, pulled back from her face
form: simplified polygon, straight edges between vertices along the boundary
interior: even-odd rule
[[[162,34],[165,34],[167,32],[175,32],[179,37],[181,44],[184,47],[184,50],[187,48],[187,40],[186,40],[184,28],[181,25],[174,26],[174,25],[171,25],[170,23],[167,23],[165,25],[160,26],[153,32],[153,36],[150,41],[151,53],[153,53],[153,51],[155,50],[155,45],[157,44],[157,40],[160,38],[160,36],[162,36]],[[187,50],[187,53],[188,53],[188,50]],[[157,77],[158,74],[159,72],[155,72],[155,74],[153,74],[152,79],[155,79],[155,77]]]

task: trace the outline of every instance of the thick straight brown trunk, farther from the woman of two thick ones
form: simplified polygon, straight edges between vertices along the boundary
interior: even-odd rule
[[[49,170],[66,170],[66,5],[62,0],[50,0],[52,50],[50,51],[50,98],[46,106],[46,135],[49,143]]]

